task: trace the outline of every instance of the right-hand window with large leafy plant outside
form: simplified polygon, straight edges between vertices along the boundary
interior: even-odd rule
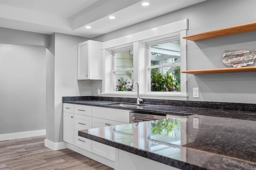
[[[180,92],[180,36],[146,47],[148,91]]]

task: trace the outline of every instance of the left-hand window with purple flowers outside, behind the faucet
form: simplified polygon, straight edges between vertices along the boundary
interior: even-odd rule
[[[132,91],[133,50],[113,51],[114,91]]]

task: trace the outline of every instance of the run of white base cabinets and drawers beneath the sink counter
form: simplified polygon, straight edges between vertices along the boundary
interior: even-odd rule
[[[102,156],[115,161],[115,148],[78,136],[78,131],[126,123],[129,123],[128,110],[63,103],[63,140],[99,155],[99,160]],[[91,129],[90,132],[105,135],[104,129]]]

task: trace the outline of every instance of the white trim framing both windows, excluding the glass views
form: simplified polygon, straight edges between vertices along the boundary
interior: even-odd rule
[[[113,87],[109,87],[112,85],[110,81],[113,80],[113,77],[109,77],[112,75],[112,61],[110,61],[112,57],[112,50],[120,49],[122,46],[127,47],[133,43],[133,50],[134,50],[134,68],[138,68],[138,71],[134,69],[134,81],[138,81],[140,84],[140,96],[142,98],[148,99],[178,99],[178,100],[186,100],[188,97],[187,94],[187,75],[182,74],[180,75],[181,79],[181,92],[160,92],[160,93],[151,93],[146,91],[147,84],[147,75],[146,75],[146,65],[142,65],[140,63],[146,63],[146,43],[143,42],[144,40],[152,40],[159,39],[161,36],[168,37],[170,34],[174,34],[178,32],[180,34],[180,55],[181,55],[181,71],[186,70],[187,68],[187,49],[186,49],[186,40],[182,37],[186,36],[188,30],[188,19],[180,20],[177,22],[173,22],[170,24],[166,24],[163,26],[158,26],[156,28],[152,28],[149,30],[144,30],[142,32],[137,32],[134,34],[130,34],[128,36],[123,36],[120,38],[116,38],[113,40],[109,40],[106,42],[102,42],[102,61],[103,61],[103,77],[102,77],[102,96],[104,97],[137,97],[137,89],[135,87],[134,92],[120,92],[120,91],[112,91]],[[110,56],[111,55],[111,56]],[[144,56],[144,57],[139,57]],[[111,63],[111,66],[109,65]],[[109,69],[109,67],[111,69]],[[110,74],[111,73],[111,74]],[[140,73],[140,75],[138,74]],[[108,77],[106,77],[106,75]],[[106,86],[108,85],[108,86]],[[111,89],[111,90],[110,90]],[[157,97],[156,97],[157,96]]]

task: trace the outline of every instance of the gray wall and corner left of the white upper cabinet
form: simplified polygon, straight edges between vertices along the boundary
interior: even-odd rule
[[[86,38],[55,33],[46,53],[46,139],[63,141],[63,96],[90,96],[91,81],[78,81],[77,44]]]

